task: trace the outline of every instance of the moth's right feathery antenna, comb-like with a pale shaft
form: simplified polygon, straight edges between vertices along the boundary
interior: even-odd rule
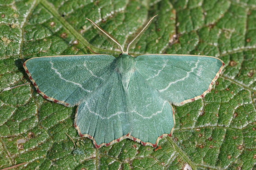
[[[153,21],[153,19],[156,16],[157,15],[155,15],[154,17],[151,17],[149,20],[147,20],[147,22],[145,22],[145,24],[142,27],[140,27],[134,34],[132,34],[127,46],[127,52],[137,44],[141,36],[143,36],[145,31],[148,29],[150,23]]]

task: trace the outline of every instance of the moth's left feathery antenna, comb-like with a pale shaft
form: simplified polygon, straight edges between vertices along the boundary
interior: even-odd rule
[[[88,18],[86,18],[88,19]],[[109,32],[105,31],[104,29],[102,29],[100,26],[98,26],[97,23],[93,22],[92,20],[88,19],[88,21],[90,21],[93,25],[93,27],[95,29],[98,30],[98,32],[104,37],[107,39],[107,41],[113,46],[115,47],[116,49],[122,51],[122,53],[125,53],[122,46],[119,44],[119,42],[117,41],[117,39],[112,36]]]

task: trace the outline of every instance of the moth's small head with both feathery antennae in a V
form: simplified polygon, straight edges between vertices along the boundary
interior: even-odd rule
[[[127,50],[124,51],[122,46],[120,45],[120,43],[117,41],[117,39],[112,36],[109,32],[105,31],[103,28],[101,28],[100,26],[98,26],[97,23],[93,22],[92,20],[86,18],[88,21],[91,22],[91,24],[93,25],[93,27],[95,29],[98,30],[98,32],[104,37],[106,38],[106,40],[116,49],[122,51],[121,54],[128,54],[128,51],[133,48],[137,42],[139,41],[139,39],[141,38],[141,36],[143,36],[143,34],[145,33],[145,31],[148,29],[150,23],[153,21],[153,19],[156,17],[157,15],[155,15],[154,17],[149,18],[149,20],[147,20],[147,22],[144,23],[144,25],[142,27],[140,27],[134,34],[132,34],[131,38],[129,39],[129,43],[127,45]],[[120,55],[121,55],[120,54]],[[120,56],[119,55],[119,56]]]

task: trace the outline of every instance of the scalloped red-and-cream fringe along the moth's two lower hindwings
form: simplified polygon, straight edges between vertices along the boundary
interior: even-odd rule
[[[171,103],[169,102],[169,104],[171,104]],[[79,107],[79,106],[78,106],[78,107]],[[98,148],[98,149],[101,148],[101,147],[103,147],[103,146],[106,146],[106,147],[111,146],[111,145],[113,145],[114,143],[120,142],[120,141],[122,141],[122,140],[124,140],[124,139],[131,139],[131,140],[133,140],[133,141],[135,141],[135,142],[141,143],[143,146],[151,146],[151,147],[153,147],[153,148],[156,148],[157,145],[158,145],[158,143],[159,143],[159,141],[160,141],[161,139],[163,139],[164,137],[167,137],[167,136],[172,137],[172,134],[173,134],[173,131],[174,131],[174,127],[175,127],[175,124],[176,124],[176,122],[175,122],[174,109],[173,109],[173,107],[172,107],[172,105],[171,105],[172,111],[173,111],[174,127],[172,128],[170,134],[164,133],[164,134],[162,134],[161,136],[159,136],[159,137],[157,138],[155,144],[150,143],[150,142],[143,142],[142,140],[131,136],[129,133],[126,134],[126,135],[124,135],[124,136],[122,136],[122,137],[120,137],[120,138],[118,138],[118,139],[115,139],[115,140],[113,140],[113,141],[111,141],[111,142],[109,142],[109,143],[97,144],[97,142],[96,142],[96,140],[93,138],[93,136],[91,136],[91,135],[89,135],[89,134],[82,134],[81,131],[80,131],[80,129],[79,129],[79,127],[76,125],[76,118],[77,118],[77,110],[78,110],[78,107],[76,108],[76,111],[75,111],[74,127],[75,127],[75,129],[78,131],[80,137],[86,137],[86,138],[91,139],[92,142],[93,142],[93,144],[94,144],[94,146],[95,146],[95,148]]]

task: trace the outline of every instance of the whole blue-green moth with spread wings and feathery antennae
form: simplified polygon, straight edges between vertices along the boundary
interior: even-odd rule
[[[39,57],[24,68],[38,93],[66,107],[77,105],[75,128],[96,148],[129,138],[156,147],[172,136],[175,125],[171,104],[182,106],[211,91],[224,63],[218,58],[177,54],[132,57],[150,18],[130,38],[124,51],[117,39],[88,19],[113,47],[106,54]]]

